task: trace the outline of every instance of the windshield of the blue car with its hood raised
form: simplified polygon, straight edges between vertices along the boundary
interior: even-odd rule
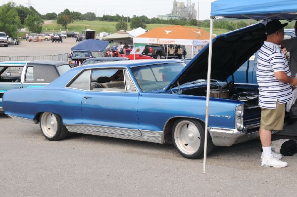
[[[184,67],[184,63],[176,62],[133,67],[131,71],[141,90],[146,92],[165,88]]]

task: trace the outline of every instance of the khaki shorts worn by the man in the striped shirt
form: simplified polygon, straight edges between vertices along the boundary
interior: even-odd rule
[[[286,103],[276,103],[276,109],[261,108],[260,128],[265,130],[283,130]]]

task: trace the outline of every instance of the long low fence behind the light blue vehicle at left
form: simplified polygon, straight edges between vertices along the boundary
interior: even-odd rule
[[[68,61],[68,54],[58,54],[58,55],[36,55],[36,56],[0,56],[0,62],[3,61],[19,61],[19,60],[55,60],[55,61]]]

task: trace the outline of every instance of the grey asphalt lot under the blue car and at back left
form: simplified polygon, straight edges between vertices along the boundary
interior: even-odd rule
[[[0,52],[62,54],[76,43],[22,41]],[[203,159],[183,158],[173,145],[85,134],[51,142],[38,124],[2,113],[0,123],[0,197],[293,197],[297,192],[297,154],[282,159],[286,168],[261,167],[259,140],[216,147],[203,174]]]

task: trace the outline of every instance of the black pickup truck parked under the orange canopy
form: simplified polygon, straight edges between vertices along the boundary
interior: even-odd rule
[[[171,58],[179,58],[184,59],[187,55],[186,47],[184,45],[177,44],[168,44],[168,53],[167,46],[157,45],[157,44],[149,44],[145,46],[143,55],[148,55],[154,57],[155,59],[161,59],[162,57]]]

